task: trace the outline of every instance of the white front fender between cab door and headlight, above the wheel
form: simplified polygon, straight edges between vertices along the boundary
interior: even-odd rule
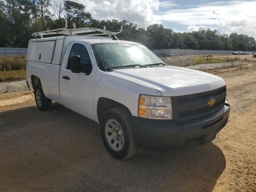
[[[138,99],[140,94],[162,96],[155,88],[111,72],[96,72],[94,86],[94,117],[97,116],[97,104],[101,97],[108,98],[126,106],[132,116],[138,116]]]

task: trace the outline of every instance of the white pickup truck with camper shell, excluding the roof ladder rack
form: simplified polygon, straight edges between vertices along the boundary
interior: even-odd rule
[[[210,142],[230,113],[222,78],[166,66],[135,42],[95,36],[33,39],[26,67],[38,108],[48,110],[54,100],[99,123],[106,149],[118,159],[131,158],[138,149]]]

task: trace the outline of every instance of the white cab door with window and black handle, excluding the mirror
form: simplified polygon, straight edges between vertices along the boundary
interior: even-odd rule
[[[72,48],[67,50],[70,51],[70,54],[69,56],[66,55],[66,58],[64,58],[66,63],[60,69],[60,98],[65,107],[90,119],[94,119],[93,97],[96,65],[93,65],[91,59],[94,57],[91,51],[92,48],[87,42],[84,42],[84,44],[74,43],[70,46]],[[88,50],[90,51],[88,52]],[[70,58],[75,55],[80,56],[81,64],[92,64],[90,74],[87,73],[86,75],[83,71],[80,73],[73,73],[71,71]]]

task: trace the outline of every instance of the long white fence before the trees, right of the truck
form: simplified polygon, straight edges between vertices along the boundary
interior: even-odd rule
[[[219,51],[219,50],[191,50],[191,49],[159,49],[152,50],[154,54],[161,54],[164,56],[177,56],[177,55],[194,55],[194,54],[232,54],[234,51]],[[248,51],[246,51],[248,52]]]

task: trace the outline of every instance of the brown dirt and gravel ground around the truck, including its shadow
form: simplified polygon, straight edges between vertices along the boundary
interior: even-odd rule
[[[226,80],[228,124],[206,146],[118,161],[100,126],[30,91],[0,94],[0,192],[256,192],[256,68]]]

